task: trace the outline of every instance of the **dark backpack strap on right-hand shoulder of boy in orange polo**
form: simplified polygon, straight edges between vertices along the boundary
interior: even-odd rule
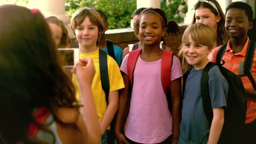
[[[254,58],[255,47],[256,47],[256,43],[252,40],[249,40],[248,48],[246,51],[245,62],[243,65],[244,73],[251,81],[254,90],[256,90],[256,84],[255,84],[255,81],[251,74],[251,70],[252,70],[252,63],[253,63],[253,58]]]

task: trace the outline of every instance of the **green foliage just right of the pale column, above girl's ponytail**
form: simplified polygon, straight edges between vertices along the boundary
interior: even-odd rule
[[[168,20],[182,23],[184,17],[181,15],[187,13],[188,5],[184,0],[162,0],[161,9],[165,11]]]

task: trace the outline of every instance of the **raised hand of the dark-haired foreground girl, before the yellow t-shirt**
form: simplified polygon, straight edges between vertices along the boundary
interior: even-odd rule
[[[90,58],[81,58],[71,71],[73,74],[77,75],[77,80],[80,84],[88,82],[88,84],[91,85],[95,75],[94,61]]]

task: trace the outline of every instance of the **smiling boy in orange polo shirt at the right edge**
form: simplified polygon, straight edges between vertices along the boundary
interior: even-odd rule
[[[222,57],[225,61],[223,67],[229,69],[238,75],[239,63],[245,61],[246,51],[249,43],[247,37],[248,29],[253,27],[252,23],[253,10],[250,5],[243,2],[233,2],[226,8],[226,22],[225,29],[230,36],[230,40]],[[217,52],[219,46],[213,50],[212,62],[216,62]],[[256,80],[256,53],[254,52],[254,59],[252,64],[251,74],[254,81]],[[241,76],[243,86],[246,92],[256,97],[256,91],[249,81],[247,76]],[[246,127],[243,131],[243,143],[256,143],[256,99],[247,98],[247,112],[246,112]]]

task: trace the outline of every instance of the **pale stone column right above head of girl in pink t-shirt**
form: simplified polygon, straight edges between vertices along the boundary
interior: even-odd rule
[[[138,8],[161,8],[160,0],[137,0],[137,9]]]

